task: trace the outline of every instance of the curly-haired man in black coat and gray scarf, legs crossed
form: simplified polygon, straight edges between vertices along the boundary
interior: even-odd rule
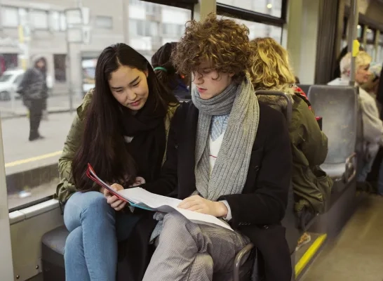
[[[159,218],[159,245],[145,281],[232,280],[234,258],[250,241],[264,260],[266,280],[291,278],[281,220],[291,179],[285,117],[259,104],[246,72],[252,51],[248,27],[214,14],[187,24],[173,60],[194,74],[192,103],[173,118],[163,180],[177,178],[180,208],[222,218],[235,231],[192,223],[177,212]]]

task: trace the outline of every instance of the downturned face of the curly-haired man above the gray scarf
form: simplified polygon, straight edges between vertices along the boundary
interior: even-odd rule
[[[234,74],[218,73],[207,63],[201,63],[199,69],[193,72],[193,83],[199,91],[199,96],[203,100],[208,100],[218,96],[231,84]]]

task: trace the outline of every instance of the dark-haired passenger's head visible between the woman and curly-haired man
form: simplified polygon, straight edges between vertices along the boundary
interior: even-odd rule
[[[190,96],[190,91],[187,88],[189,75],[177,74],[177,70],[170,59],[173,49],[177,46],[177,42],[166,43],[159,48],[152,56],[152,66],[157,77],[164,86],[173,93],[177,98],[185,98]]]

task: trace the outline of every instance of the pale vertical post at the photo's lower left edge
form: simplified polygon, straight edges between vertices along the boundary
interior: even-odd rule
[[[4,164],[3,134],[0,122],[0,280],[11,281],[13,259],[11,246],[11,227],[9,226],[8,195],[6,190],[6,168]]]

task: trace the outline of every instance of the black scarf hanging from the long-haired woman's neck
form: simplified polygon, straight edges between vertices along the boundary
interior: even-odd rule
[[[121,107],[123,136],[133,137],[127,143],[128,152],[135,160],[137,176],[142,176],[147,182],[154,181],[161,172],[166,148],[165,115],[166,109],[161,103],[156,105],[152,93],[135,115],[127,107]]]

